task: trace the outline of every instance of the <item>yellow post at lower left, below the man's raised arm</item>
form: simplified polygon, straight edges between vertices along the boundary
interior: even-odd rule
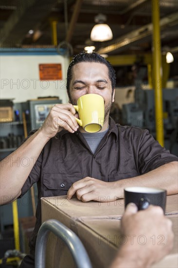
[[[17,200],[13,201],[12,203],[12,212],[13,212],[13,223],[14,223],[15,249],[20,250]]]

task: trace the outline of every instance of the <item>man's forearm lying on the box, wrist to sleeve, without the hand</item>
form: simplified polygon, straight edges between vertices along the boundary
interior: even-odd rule
[[[155,187],[167,190],[167,194],[178,193],[178,162],[164,164],[146,174],[119,180],[113,183],[118,197],[123,197],[124,188],[131,186]]]

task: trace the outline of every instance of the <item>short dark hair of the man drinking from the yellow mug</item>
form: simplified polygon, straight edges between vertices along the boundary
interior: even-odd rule
[[[87,52],[83,51],[83,52],[75,55],[72,58],[71,63],[70,63],[69,68],[68,68],[67,93],[68,93],[69,98],[71,97],[70,96],[70,83],[71,83],[71,78],[72,78],[72,67],[79,62],[97,62],[97,63],[105,64],[107,66],[107,69],[108,69],[108,76],[109,76],[109,79],[111,81],[112,93],[113,93],[114,88],[116,87],[116,74],[115,74],[115,70],[114,70],[113,66],[110,64],[109,61],[106,60],[106,58],[102,57],[98,53],[96,53],[96,52],[87,53]]]

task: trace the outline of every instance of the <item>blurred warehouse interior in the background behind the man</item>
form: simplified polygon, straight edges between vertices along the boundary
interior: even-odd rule
[[[91,40],[100,23],[109,25],[109,40]],[[148,129],[178,156],[177,0],[1,0],[0,32],[0,160],[54,104],[68,103],[68,66],[84,50],[115,69],[115,122]],[[29,252],[36,206],[36,186],[0,206],[0,268],[19,267]]]

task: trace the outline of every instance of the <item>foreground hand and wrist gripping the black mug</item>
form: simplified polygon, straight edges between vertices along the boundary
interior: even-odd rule
[[[123,245],[110,268],[147,268],[160,261],[173,247],[172,222],[160,207],[137,212],[128,204],[121,221]]]

